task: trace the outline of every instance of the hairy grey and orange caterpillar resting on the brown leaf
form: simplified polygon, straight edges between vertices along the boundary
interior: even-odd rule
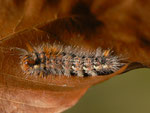
[[[48,76],[97,76],[117,71],[123,63],[111,50],[95,51],[59,44],[28,45],[21,57],[21,68],[25,74]]]

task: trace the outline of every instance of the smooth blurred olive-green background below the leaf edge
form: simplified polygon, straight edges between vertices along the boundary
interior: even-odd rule
[[[136,69],[91,87],[64,113],[150,113],[150,69]]]

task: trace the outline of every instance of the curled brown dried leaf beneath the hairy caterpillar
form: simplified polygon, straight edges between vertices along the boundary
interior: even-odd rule
[[[108,2],[0,0],[1,112],[61,112],[73,106],[90,86],[131,69],[150,66],[150,20],[145,17],[149,2]],[[111,48],[125,57],[127,64],[106,76],[27,77],[15,48],[27,49],[27,43],[47,42],[87,49]]]

